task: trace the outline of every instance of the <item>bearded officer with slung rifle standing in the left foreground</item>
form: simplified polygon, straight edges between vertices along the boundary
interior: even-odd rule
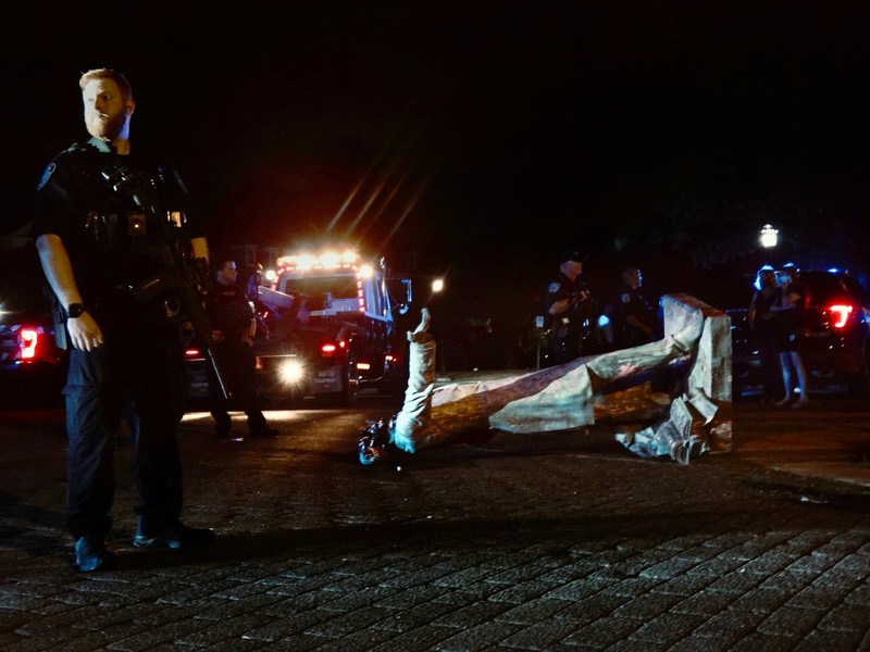
[[[176,425],[184,306],[166,281],[166,252],[208,260],[184,186],[164,163],[134,153],[136,106],[123,74],[79,79],[91,138],[49,163],[33,235],[69,331],[67,526],[76,565],[103,569],[114,498],[113,442],[125,402],[138,421],[134,546],[192,549],[211,529],[183,525]],[[176,249],[167,249],[171,246]],[[177,284],[175,284],[177,287]]]

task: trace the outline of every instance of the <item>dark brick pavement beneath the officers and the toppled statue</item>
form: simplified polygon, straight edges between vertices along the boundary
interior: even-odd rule
[[[734,452],[639,460],[604,428],[482,436],[361,467],[356,413],[273,413],[269,441],[182,432],[199,554],[129,546],[79,574],[57,414],[0,415],[0,648],[25,650],[870,649],[863,402],[736,404]],[[845,479],[845,481],[844,481]]]

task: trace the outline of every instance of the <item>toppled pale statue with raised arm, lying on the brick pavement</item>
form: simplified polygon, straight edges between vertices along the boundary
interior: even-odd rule
[[[370,465],[389,448],[415,453],[463,434],[573,430],[611,424],[643,457],[688,464],[731,447],[730,318],[685,294],[662,298],[663,339],[555,367],[472,384],[435,387],[436,343],[430,313],[408,333],[409,379],[401,411],[370,422],[359,459]]]

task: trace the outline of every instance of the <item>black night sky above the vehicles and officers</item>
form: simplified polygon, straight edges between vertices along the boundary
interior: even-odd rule
[[[682,235],[688,262],[863,214],[862,2],[270,4],[23,9],[0,45],[3,230],[83,139],[77,77],[100,65],[217,244],[331,234],[519,283],[566,242],[604,269]]]

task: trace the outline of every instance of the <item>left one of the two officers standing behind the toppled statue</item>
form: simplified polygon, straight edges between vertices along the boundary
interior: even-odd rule
[[[586,353],[583,351],[583,336],[594,331],[594,299],[582,277],[586,259],[574,249],[564,251],[559,256],[559,272],[547,287],[545,309],[550,316],[555,364],[571,362]]]

